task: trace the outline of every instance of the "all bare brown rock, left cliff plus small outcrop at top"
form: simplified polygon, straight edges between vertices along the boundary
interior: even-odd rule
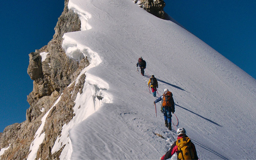
[[[163,0],[141,0],[143,8],[148,12],[163,18]],[[164,19],[164,18],[163,18]],[[43,132],[46,136],[40,145],[36,159],[59,159],[61,150],[52,154],[51,150],[62,126],[72,120],[74,100],[78,92],[82,92],[86,76],[80,76],[78,84],[72,83],[82,69],[90,63],[85,57],[80,62],[66,56],[62,49],[62,36],[66,32],[79,31],[81,22],[77,14],[68,10],[68,0],[54,28],[55,34],[48,45],[29,54],[28,75],[33,82],[33,91],[28,95],[30,108],[26,112],[26,121],[12,124],[0,133],[0,149],[8,148],[0,158],[4,160],[27,159],[30,145],[36,131],[40,127],[42,117],[50,110],[56,100],[60,101],[49,112]],[[48,53],[42,60],[40,53]],[[69,86],[69,87],[67,87]],[[73,94],[70,94],[70,93]]]

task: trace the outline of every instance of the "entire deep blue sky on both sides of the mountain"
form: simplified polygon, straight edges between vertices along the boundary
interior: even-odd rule
[[[165,0],[170,16],[256,79],[256,2]],[[64,0],[1,1],[0,132],[26,120],[28,54],[52,39]]]

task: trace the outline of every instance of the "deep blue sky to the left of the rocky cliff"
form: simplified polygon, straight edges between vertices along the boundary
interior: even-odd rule
[[[52,39],[64,0],[0,2],[0,132],[26,120],[27,95],[33,81],[27,74],[28,54]]]

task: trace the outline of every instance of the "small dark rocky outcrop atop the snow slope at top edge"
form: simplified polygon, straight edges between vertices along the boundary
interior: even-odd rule
[[[166,18],[166,14],[164,12],[165,2],[164,0],[134,0],[135,3],[140,2],[140,7],[142,7],[147,12],[157,16],[161,19],[168,19]]]

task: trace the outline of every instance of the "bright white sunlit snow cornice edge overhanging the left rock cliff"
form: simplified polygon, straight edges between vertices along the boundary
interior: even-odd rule
[[[74,5],[72,2],[69,2],[68,8],[74,10],[74,12],[79,15],[81,20],[81,30],[88,30],[91,28],[90,25],[87,24],[90,14],[87,12],[79,12],[79,9],[77,9],[79,7]],[[68,124],[64,124],[60,134],[61,136],[57,137],[52,148],[52,154],[54,154],[64,147],[59,158],[70,160],[72,154],[72,141],[69,136],[70,130],[78,123],[85,120],[88,116],[96,112],[102,106],[102,104],[111,103],[112,97],[106,92],[106,90],[109,88],[108,83],[87,72],[102,62],[100,56],[98,56],[98,54],[93,52],[90,48],[82,44],[78,44],[78,42],[70,38],[68,34],[64,34],[63,38],[64,40],[62,42],[62,48],[65,50],[68,57],[79,62],[84,57],[87,57],[88,61],[90,62],[90,65],[84,68],[75,80],[75,85],[77,85],[80,77],[83,74],[86,75],[84,88],[82,88],[82,94],[78,92],[76,100],[74,101],[76,103],[73,108],[75,116]]]

